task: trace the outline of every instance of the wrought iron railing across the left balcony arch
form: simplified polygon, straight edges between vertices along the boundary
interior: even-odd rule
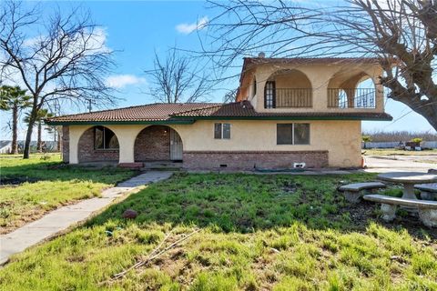
[[[277,88],[275,89],[276,108],[312,107],[312,89],[310,88]]]

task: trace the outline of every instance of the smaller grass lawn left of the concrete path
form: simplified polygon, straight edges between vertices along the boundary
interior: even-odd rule
[[[80,199],[134,175],[125,169],[66,166],[59,155],[0,156],[0,234],[36,220],[47,211]]]

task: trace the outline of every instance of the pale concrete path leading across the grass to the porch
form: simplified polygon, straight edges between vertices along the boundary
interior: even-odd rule
[[[171,172],[150,171],[135,176],[103,191],[101,197],[86,199],[72,206],[58,208],[12,233],[0,236],[0,266],[9,260],[9,256],[20,253],[27,247],[34,246],[43,239],[86,220],[91,214],[109,205],[117,197],[133,191],[137,186],[168,179],[172,174]]]

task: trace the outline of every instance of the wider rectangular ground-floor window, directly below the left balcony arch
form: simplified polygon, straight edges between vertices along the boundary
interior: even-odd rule
[[[279,124],[277,145],[310,145],[310,124]]]

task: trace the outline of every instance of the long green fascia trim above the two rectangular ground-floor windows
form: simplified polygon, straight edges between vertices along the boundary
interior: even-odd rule
[[[174,116],[174,118],[184,119],[183,116]],[[393,117],[372,117],[372,116],[197,116],[187,117],[196,120],[378,120],[391,121]]]

